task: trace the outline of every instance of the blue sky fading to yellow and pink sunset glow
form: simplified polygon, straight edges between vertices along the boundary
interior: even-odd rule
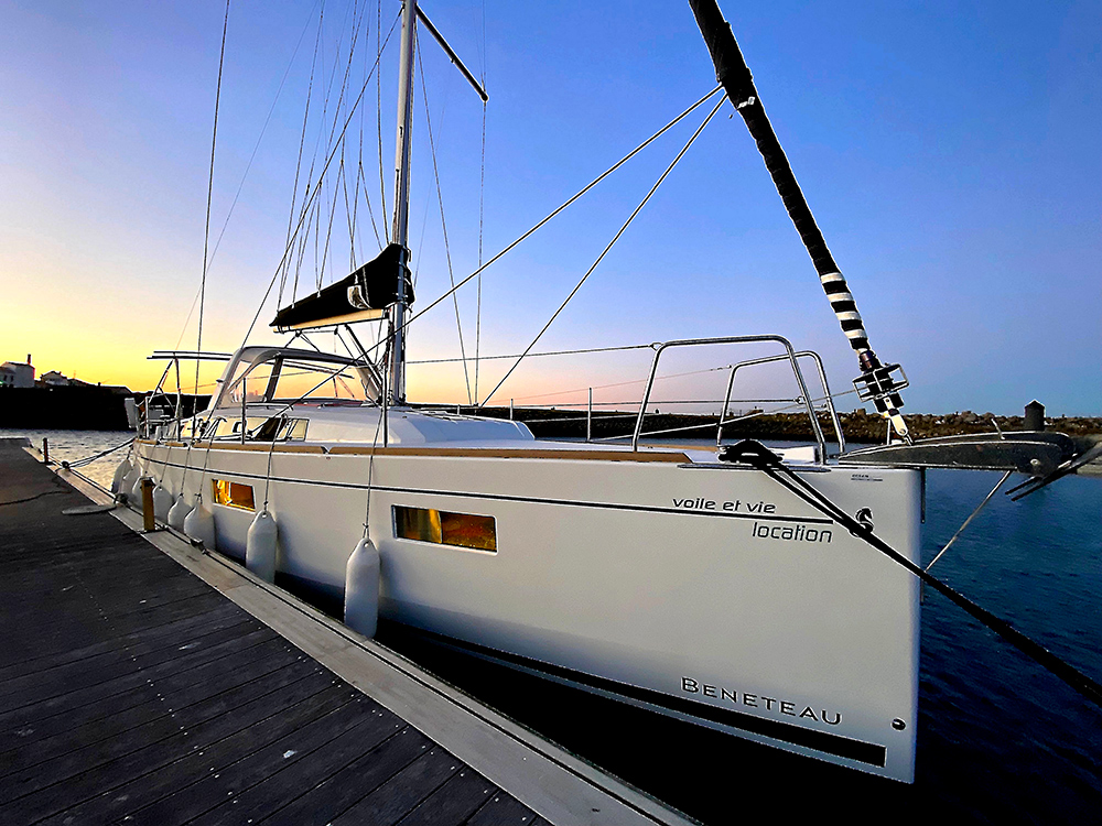
[[[1102,415],[1102,3],[721,8],[873,348],[906,370],[904,411],[1015,414],[1036,398],[1050,414]],[[447,289],[449,258],[455,280],[476,269],[479,233],[487,259],[715,86],[680,1],[422,9],[485,77],[489,104],[483,187],[482,102],[422,32],[414,312]],[[289,224],[331,153],[282,304],[386,242],[397,29],[378,85],[369,72],[398,12],[393,0],[230,3],[204,349],[239,347],[255,316],[250,341],[282,340],[264,323]],[[196,346],[225,13],[207,0],[0,2],[0,361],[30,352],[40,372],[148,389],[163,369],[154,349]],[[528,347],[707,108],[489,268],[480,316],[476,284],[458,292],[467,356],[476,339],[483,356]],[[725,105],[534,352],[780,334],[822,355],[834,392],[850,388],[856,360],[731,116]],[[667,380],[661,399],[722,395],[725,366],[767,352],[663,356],[663,373],[693,376]],[[460,354],[451,300],[410,326],[412,362]],[[638,399],[651,357],[528,359],[494,400],[579,403],[593,387],[615,406]],[[480,365],[479,398],[509,363]],[[465,379],[456,362],[413,363],[409,394],[465,403],[473,379],[473,365]],[[786,382],[745,389],[785,398]]]

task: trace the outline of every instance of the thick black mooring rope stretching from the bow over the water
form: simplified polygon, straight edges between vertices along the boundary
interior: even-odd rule
[[[771,479],[782,485],[786,489],[795,493],[815,510],[830,517],[840,525],[845,528],[858,540],[863,540],[893,562],[898,563],[936,591],[948,597],[954,605],[963,608],[974,619],[979,620],[986,628],[997,633],[1008,643],[1014,645],[1026,656],[1030,657],[1052,674],[1058,676],[1069,686],[1074,688],[1087,699],[1102,707],[1102,685],[1091,680],[1073,665],[1065,662],[1048,649],[1026,637],[1024,633],[1011,626],[1006,620],[996,617],[985,608],[981,608],[963,594],[953,590],[948,585],[921,567],[905,557],[898,551],[888,545],[884,540],[874,534],[869,528],[861,524],[856,519],[843,511],[822,493],[801,479],[791,469],[785,467],[780,457],[763,445],[760,442],[746,439],[733,445],[724,450],[723,457],[726,459],[742,461],[761,470]]]

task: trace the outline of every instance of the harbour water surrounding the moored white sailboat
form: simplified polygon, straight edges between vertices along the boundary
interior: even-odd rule
[[[51,458],[120,445],[127,432],[0,430]],[[82,472],[109,485],[126,450]],[[927,474],[923,562],[998,480]],[[2,519],[2,511],[0,511]],[[1068,477],[1012,502],[1003,493],[932,572],[1054,654],[1102,682],[1102,479]],[[823,817],[910,823],[1098,823],[1102,709],[943,597],[922,607],[917,776],[860,774],[425,646],[382,640],[580,757],[707,824]],[[753,807],[753,808],[752,808]]]

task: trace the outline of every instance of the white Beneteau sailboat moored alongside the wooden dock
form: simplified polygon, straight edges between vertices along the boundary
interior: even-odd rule
[[[431,24],[403,0],[392,243],[271,325],[339,328],[359,351],[240,348],[206,411],[139,423],[133,472],[165,491],[170,524],[266,578],[343,600],[366,633],[377,616],[687,724],[911,782],[922,468],[1038,476],[1067,461],[1067,446],[910,438],[906,378],[869,348],[730,26],[711,0],[691,6],[858,357],[858,394],[895,430],[893,444],[829,456],[801,367],[809,354],[779,335],[657,347],[630,444],[537,439],[516,421],[410,404],[414,31]],[[352,328],[379,319],[385,352]],[[791,370],[817,445],[646,442],[665,354],[752,343]]]

